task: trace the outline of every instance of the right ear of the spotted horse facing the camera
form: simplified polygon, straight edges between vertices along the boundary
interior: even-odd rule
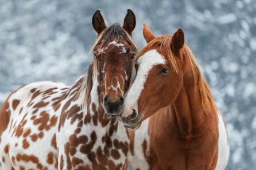
[[[123,21],[123,29],[127,31],[131,35],[134,28],[136,26],[136,18],[132,10],[128,9],[127,14],[125,16],[125,20]]]

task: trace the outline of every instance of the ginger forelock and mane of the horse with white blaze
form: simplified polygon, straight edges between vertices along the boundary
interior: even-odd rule
[[[176,62],[176,56],[172,52],[171,44],[172,42],[172,36],[171,35],[161,35],[159,37],[154,38],[152,41],[150,41],[145,48],[142,49],[142,51],[139,53],[138,58],[141,57],[143,54],[148,52],[149,50],[160,48],[160,52],[166,53],[167,60],[169,61],[169,64],[172,66],[172,69],[174,72],[179,74],[179,67]],[[185,44],[183,47],[184,50],[184,57],[188,58],[192,72],[193,72],[193,78],[195,80],[195,89],[197,88],[199,90],[203,110],[206,113],[211,112],[212,106],[215,105],[214,97],[212,96],[211,90],[205,81],[205,78],[203,74],[200,72],[199,65],[196,62],[196,58],[192,53],[192,50]],[[138,59],[137,58],[137,59]]]

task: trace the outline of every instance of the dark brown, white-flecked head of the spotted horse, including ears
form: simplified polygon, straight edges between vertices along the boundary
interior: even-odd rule
[[[131,10],[127,10],[123,26],[115,23],[107,27],[100,10],[92,17],[92,25],[98,34],[91,51],[99,82],[99,102],[108,116],[119,116],[123,110],[123,96],[130,85],[138,49],[131,38],[135,23]]]

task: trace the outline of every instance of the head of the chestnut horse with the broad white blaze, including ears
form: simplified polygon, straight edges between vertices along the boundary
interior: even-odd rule
[[[185,45],[182,29],[173,35],[155,37],[144,24],[143,36],[148,45],[138,55],[137,75],[127,93],[121,116],[126,128],[137,128],[157,110],[172,104],[184,84],[184,77],[200,79],[198,84],[205,82],[203,77],[197,77],[200,71],[191,50]],[[197,84],[193,80],[186,83]],[[204,94],[203,91],[201,95]]]

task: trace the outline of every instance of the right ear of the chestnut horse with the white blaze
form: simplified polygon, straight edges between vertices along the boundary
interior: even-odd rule
[[[183,48],[185,44],[185,36],[184,32],[181,28],[179,28],[173,35],[172,35],[172,42],[170,47],[172,48],[175,54],[179,54],[180,49]]]

